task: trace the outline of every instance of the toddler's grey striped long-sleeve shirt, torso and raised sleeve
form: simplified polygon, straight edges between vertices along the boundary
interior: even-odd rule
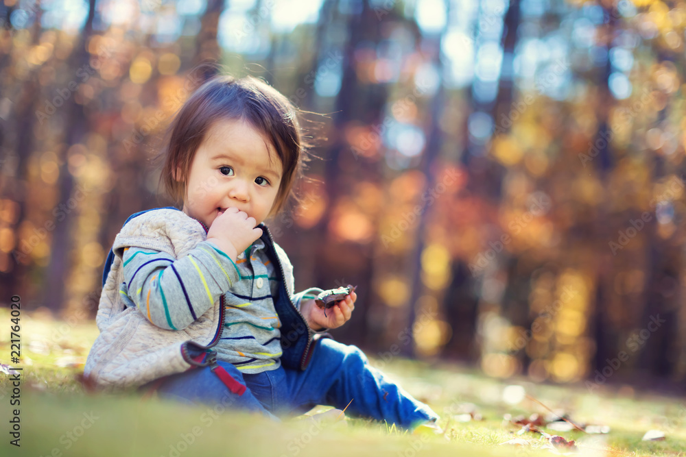
[[[276,369],[281,323],[272,295],[281,278],[264,248],[257,240],[233,262],[208,241],[178,260],[154,249],[128,247],[123,254],[126,282],[119,292],[150,322],[168,330],[187,327],[226,293],[217,358],[245,373]]]

